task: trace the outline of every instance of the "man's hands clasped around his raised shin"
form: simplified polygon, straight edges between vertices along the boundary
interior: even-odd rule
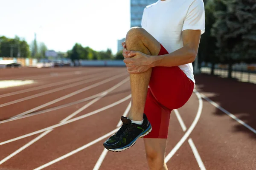
[[[140,51],[126,49],[125,42],[122,42],[124,62],[130,74],[140,74],[151,68],[150,57]]]

